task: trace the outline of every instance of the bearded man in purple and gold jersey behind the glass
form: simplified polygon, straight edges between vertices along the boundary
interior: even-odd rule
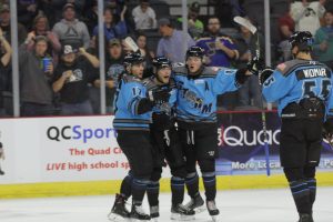
[[[220,34],[220,20],[212,17],[208,22],[208,33],[196,41],[196,46],[205,51],[208,67],[226,67],[231,65],[231,60],[239,58],[239,52],[233,41]]]

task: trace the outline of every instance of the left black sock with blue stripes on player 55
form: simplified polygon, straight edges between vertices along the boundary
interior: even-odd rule
[[[292,181],[289,183],[300,214],[311,214],[310,189],[304,180]]]

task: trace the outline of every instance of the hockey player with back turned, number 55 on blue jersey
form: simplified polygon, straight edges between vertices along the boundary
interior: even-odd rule
[[[310,32],[295,32],[290,43],[294,59],[275,70],[263,71],[260,80],[266,101],[276,101],[279,105],[280,159],[300,214],[299,222],[313,222],[322,129],[325,119],[333,114],[332,71],[312,60]],[[327,131],[333,130],[327,128]]]

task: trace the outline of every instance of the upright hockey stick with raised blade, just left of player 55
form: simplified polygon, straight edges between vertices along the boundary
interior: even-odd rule
[[[259,42],[259,34],[258,29],[254,27],[248,19],[243,17],[234,17],[233,21],[238,24],[245,27],[250,30],[250,32],[256,36],[255,40],[255,56],[260,59],[260,42]],[[261,70],[260,70],[261,71]],[[259,80],[260,81],[260,80]],[[266,128],[266,114],[263,108],[263,99],[262,99],[262,109],[261,109],[261,121],[262,121],[262,130],[264,134],[264,151],[265,151],[265,162],[266,162],[266,174],[271,175],[271,167],[270,167],[270,148],[269,148],[269,139],[268,139],[268,128]]]

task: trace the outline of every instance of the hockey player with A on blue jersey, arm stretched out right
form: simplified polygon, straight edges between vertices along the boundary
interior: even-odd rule
[[[203,205],[199,193],[199,178],[195,170],[199,163],[206,196],[206,209],[215,220],[219,210],[215,205],[215,157],[218,155],[216,97],[235,91],[248,77],[256,73],[258,60],[248,69],[212,69],[202,63],[204,52],[200,47],[186,51],[185,64],[173,69],[178,85],[176,122],[186,160],[186,188],[191,201],[186,206],[196,209]]]

